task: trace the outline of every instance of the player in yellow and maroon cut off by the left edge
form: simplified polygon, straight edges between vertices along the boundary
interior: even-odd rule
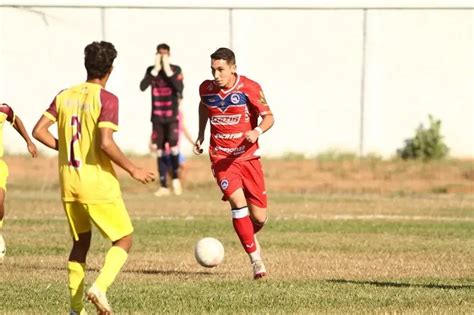
[[[28,152],[32,157],[38,155],[36,146],[31,142],[28,132],[20,117],[16,116],[13,109],[7,104],[0,103],[0,263],[3,261],[6,253],[5,240],[2,236],[3,217],[5,216],[5,192],[7,191],[8,166],[3,161],[3,125],[8,121],[13,128],[25,139]]]

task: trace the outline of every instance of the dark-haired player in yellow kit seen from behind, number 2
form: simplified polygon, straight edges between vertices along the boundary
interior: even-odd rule
[[[112,162],[142,183],[153,181],[155,175],[135,166],[113,139],[118,129],[118,99],[105,85],[117,56],[115,47],[93,42],[84,54],[87,81],[54,98],[36,123],[33,136],[59,153],[61,195],[73,236],[67,267],[71,314],[85,313],[82,296],[91,222],[112,241],[112,247],[86,298],[99,314],[111,314],[106,292],[125,264],[133,232]],[[57,139],[49,131],[54,123]]]

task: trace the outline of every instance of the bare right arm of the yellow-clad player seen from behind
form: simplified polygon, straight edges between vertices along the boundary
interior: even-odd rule
[[[99,128],[100,132],[100,149],[107,154],[110,159],[127,171],[134,179],[143,184],[155,180],[155,174],[149,172],[141,167],[137,167],[132,163],[120,150],[113,138],[114,130],[111,128]]]

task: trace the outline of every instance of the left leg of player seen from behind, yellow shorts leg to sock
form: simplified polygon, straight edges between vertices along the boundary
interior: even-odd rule
[[[91,242],[91,224],[83,204],[64,202],[63,207],[73,237],[72,249],[67,263],[71,313],[81,314],[81,312],[84,312],[84,279],[86,276],[86,257]]]

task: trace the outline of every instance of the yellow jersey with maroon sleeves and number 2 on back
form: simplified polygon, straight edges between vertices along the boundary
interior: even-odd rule
[[[58,126],[63,201],[103,203],[121,197],[110,158],[100,149],[99,128],[118,130],[118,99],[99,84],[61,91],[44,113]]]

